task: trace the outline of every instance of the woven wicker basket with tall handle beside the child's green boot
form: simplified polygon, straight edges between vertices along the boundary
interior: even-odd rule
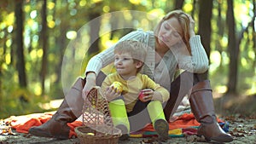
[[[113,127],[108,101],[95,87],[86,95],[83,107],[83,126],[75,128],[81,144],[117,144],[121,130]]]

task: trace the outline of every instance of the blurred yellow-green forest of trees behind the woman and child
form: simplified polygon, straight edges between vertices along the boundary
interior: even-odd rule
[[[195,32],[210,58],[206,75],[213,91],[235,99],[255,95],[255,5],[255,0],[1,0],[0,118],[43,112],[39,103],[63,98],[61,66],[67,55],[78,59],[79,50],[88,49],[80,56],[79,73],[70,73],[84,77],[92,55],[134,29],[153,30],[173,9],[183,9],[195,19]],[[127,13],[108,16],[125,10],[159,19]],[[86,24],[90,25],[81,28]],[[106,29],[113,31],[103,33]],[[84,42],[87,45],[78,49]]]

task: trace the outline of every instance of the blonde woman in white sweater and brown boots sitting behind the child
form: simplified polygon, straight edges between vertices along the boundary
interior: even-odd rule
[[[185,95],[189,96],[191,110],[201,126],[198,135],[207,140],[218,142],[233,141],[218,125],[212,102],[212,89],[209,80],[204,77],[208,69],[208,58],[201,44],[201,37],[195,35],[195,22],[182,10],[166,14],[156,26],[154,32],[137,30],[128,33],[120,41],[137,40],[148,45],[148,54],[142,73],[170,91],[164,112],[166,120],[177,110]],[[100,85],[105,76],[101,69],[113,62],[113,47],[90,59],[85,80],[79,79],[69,91],[59,110],[45,124],[29,130],[32,135],[68,138],[67,123],[73,122],[81,114],[83,106],[82,92],[86,95],[96,84]],[[178,69],[184,70],[177,78]],[[86,81],[86,83],[85,83]],[[148,101],[152,97],[147,97]],[[139,115],[141,110],[134,113]],[[137,118],[139,118],[138,116]],[[141,122],[132,119],[136,124]],[[139,124],[140,125],[140,124]],[[143,124],[142,124],[143,125]]]

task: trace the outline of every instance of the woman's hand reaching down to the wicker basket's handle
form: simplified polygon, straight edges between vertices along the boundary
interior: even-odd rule
[[[90,92],[90,89],[92,89],[94,86],[96,86],[96,74],[94,72],[87,73],[86,76],[86,83],[84,84],[83,89],[83,99],[85,100],[85,96],[88,95]]]

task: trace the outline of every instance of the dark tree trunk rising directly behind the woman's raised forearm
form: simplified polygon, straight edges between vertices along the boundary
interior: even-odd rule
[[[212,20],[212,0],[200,0],[199,11],[199,35],[201,35],[201,43],[206,49],[208,58],[210,57],[211,43],[211,20]],[[204,73],[204,77],[208,77],[208,72]]]

